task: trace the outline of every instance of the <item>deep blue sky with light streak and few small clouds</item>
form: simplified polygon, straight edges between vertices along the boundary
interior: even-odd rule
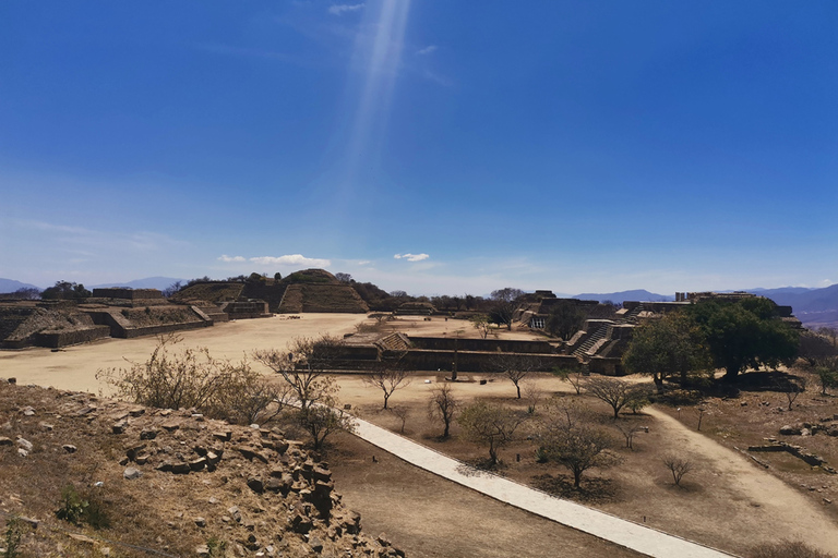
[[[0,277],[838,282],[838,3],[0,2]]]

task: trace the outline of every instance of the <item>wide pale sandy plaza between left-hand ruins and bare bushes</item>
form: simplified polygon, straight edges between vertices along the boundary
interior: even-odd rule
[[[352,332],[355,325],[364,317],[359,314],[303,314],[300,319],[285,316],[240,319],[181,331],[183,341],[180,345],[207,347],[213,356],[236,361],[258,349],[284,349],[298,336]],[[127,367],[129,363],[125,361],[145,362],[156,345],[156,337],[141,337],[105,339],[58,352],[41,348],[0,351],[0,377],[15,377],[22,385],[97,392],[103,386],[96,380],[96,371]]]

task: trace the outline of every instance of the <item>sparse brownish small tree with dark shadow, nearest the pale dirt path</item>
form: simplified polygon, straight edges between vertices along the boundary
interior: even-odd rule
[[[614,439],[590,422],[587,414],[587,409],[575,404],[549,405],[535,437],[548,460],[571,471],[575,488],[579,487],[585,471],[604,469],[620,461],[610,452]]]

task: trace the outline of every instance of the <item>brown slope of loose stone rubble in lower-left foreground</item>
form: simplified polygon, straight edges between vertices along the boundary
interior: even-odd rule
[[[230,487],[224,492],[225,504],[211,497],[201,515],[176,519],[200,529],[210,523],[220,525],[234,556],[405,556],[386,535],[363,535],[360,515],[346,509],[334,489],[328,464],[300,442],[286,439],[277,428],[229,425],[193,410],[146,409],[88,393],[57,393],[60,404],[58,412],[50,413],[50,421],[58,424],[61,416],[81,418],[98,424],[98,432],[111,437],[111,442],[112,438],[121,441],[122,452],[115,459],[124,468],[123,482],[153,486],[160,475],[175,482],[187,475],[204,475],[208,486],[208,477],[214,475],[213,483]],[[37,405],[21,409],[19,416],[36,424],[46,418]],[[48,432],[46,426],[43,430]],[[46,450],[76,451],[75,446],[62,441],[56,439],[56,449]],[[27,459],[33,450],[33,444],[24,438],[3,436],[0,460],[10,459],[5,447],[16,447],[19,459]],[[239,494],[241,504],[227,506],[230,494]],[[169,523],[177,529],[177,521]],[[193,556],[211,556],[211,548],[200,545]]]

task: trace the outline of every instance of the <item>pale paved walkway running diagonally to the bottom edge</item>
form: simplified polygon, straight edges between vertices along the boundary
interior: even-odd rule
[[[725,554],[609,513],[515,483],[356,418],[356,435],[381,449],[457,484],[596,537],[656,558],[722,558]]]

